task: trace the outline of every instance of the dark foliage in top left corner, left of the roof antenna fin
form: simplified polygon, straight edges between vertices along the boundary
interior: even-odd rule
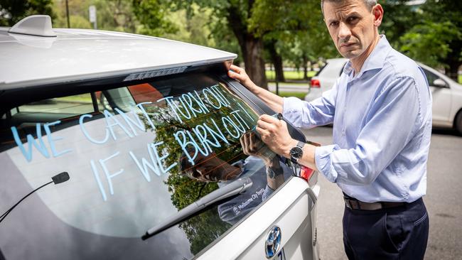
[[[47,14],[53,19],[53,0],[0,0],[0,26],[14,26],[26,16]]]

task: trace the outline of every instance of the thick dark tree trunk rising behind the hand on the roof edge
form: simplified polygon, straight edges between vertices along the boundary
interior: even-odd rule
[[[235,6],[230,6],[230,9],[228,9],[227,21],[237,38],[242,56],[244,56],[247,75],[257,86],[267,90],[268,82],[263,60],[263,39],[255,38],[252,33],[247,33],[247,26],[244,25]]]

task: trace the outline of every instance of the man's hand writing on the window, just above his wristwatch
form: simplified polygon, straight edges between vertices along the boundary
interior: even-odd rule
[[[257,132],[262,141],[274,151],[274,153],[290,158],[290,149],[298,143],[291,138],[287,124],[284,120],[276,119],[267,114],[262,114],[257,121]]]

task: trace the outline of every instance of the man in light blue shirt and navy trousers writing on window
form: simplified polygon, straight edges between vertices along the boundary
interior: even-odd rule
[[[299,127],[333,123],[333,145],[291,139],[284,121],[262,115],[257,131],[275,153],[322,173],[344,193],[343,243],[349,259],[423,259],[429,218],[426,161],[431,94],[424,72],[380,36],[376,1],[321,1],[338,52],[349,62],[331,91],[313,102],[278,97],[232,66],[275,112]]]

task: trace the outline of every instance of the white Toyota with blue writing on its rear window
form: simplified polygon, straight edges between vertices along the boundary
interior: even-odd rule
[[[0,56],[0,259],[318,259],[318,173],[252,134],[235,54],[29,16]]]

